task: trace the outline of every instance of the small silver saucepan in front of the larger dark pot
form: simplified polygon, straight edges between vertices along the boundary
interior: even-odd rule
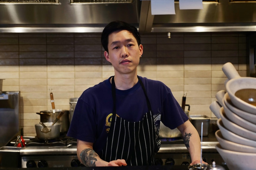
[[[61,124],[55,123],[52,126],[52,123],[53,122],[45,122],[44,123],[45,126],[47,126],[51,129],[51,131],[47,132],[47,133],[41,132],[41,129],[43,128],[43,126],[41,124],[35,124],[38,139],[55,139],[60,136]]]

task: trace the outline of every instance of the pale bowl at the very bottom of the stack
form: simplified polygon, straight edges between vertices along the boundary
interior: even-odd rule
[[[256,153],[235,152],[216,145],[222,159],[230,170],[256,170]]]

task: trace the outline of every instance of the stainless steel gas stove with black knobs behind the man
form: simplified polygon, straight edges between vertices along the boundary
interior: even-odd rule
[[[2,156],[7,159],[7,165],[2,167],[13,166],[14,160],[20,161],[18,167],[21,168],[83,166],[77,157],[77,141],[74,138],[63,135],[53,140],[41,140],[37,137],[23,137],[23,139],[25,147],[14,147],[15,140],[13,140],[8,146],[0,148],[0,157],[2,152],[10,154],[9,158],[6,155]],[[204,138],[203,159],[208,163],[214,160],[216,164],[223,165],[225,162],[215,148],[217,143],[214,135]],[[13,154],[17,158],[14,158]],[[154,157],[157,165],[188,165],[191,163],[189,152],[182,138],[162,139],[160,150]]]

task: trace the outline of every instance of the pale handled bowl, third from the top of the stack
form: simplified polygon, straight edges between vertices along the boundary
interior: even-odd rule
[[[241,126],[247,130],[250,130],[252,132],[256,133],[256,124],[253,124],[251,122],[248,122],[247,120],[241,118],[240,116],[234,114],[225,104],[223,103],[223,108],[225,111],[225,114],[227,118],[232,121],[233,123],[237,124],[238,126]],[[256,122],[255,122],[256,123]]]

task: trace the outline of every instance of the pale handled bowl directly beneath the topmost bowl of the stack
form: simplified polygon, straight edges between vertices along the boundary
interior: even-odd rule
[[[224,103],[227,106],[227,108],[229,108],[234,114],[242,117],[243,119],[247,120],[248,122],[256,124],[256,112],[255,112],[255,114],[251,114],[251,113],[248,113],[246,111],[242,111],[242,110],[236,108],[236,106],[234,106],[233,103],[231,102],[228,93],[226,93],[224,95],[223,100],[224,100]]]

